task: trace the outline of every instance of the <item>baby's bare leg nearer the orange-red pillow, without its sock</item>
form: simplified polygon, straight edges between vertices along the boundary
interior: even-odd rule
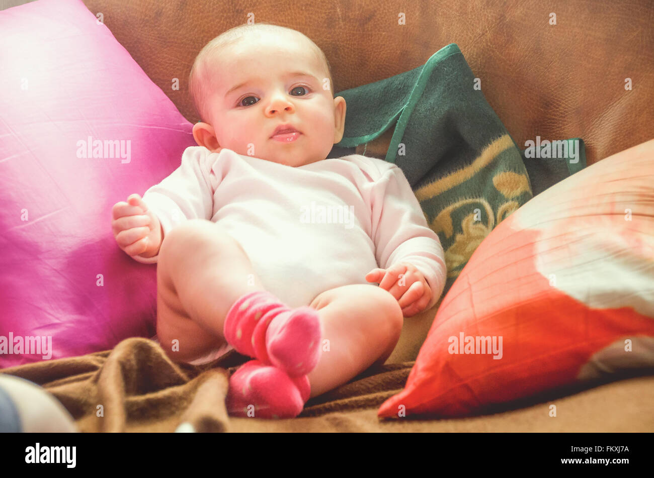
[[[336,287],[318,295],[311,307],[320,315],[323,344],[309,373],[311,397],[347,383],[373,364],[384,364],[402,332],[400,304],[377,285]]]

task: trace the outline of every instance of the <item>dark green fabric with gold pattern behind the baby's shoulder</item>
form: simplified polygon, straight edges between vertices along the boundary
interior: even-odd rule
[[[441,240],[446,293],[479,243],[531,199],[519,148],[456,44],[421,67],[337,95],[347,102],[337,147],[394,129],[385,159],[402,168]]]

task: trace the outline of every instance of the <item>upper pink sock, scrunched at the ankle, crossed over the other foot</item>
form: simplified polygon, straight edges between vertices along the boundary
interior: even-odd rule
[[[254,291],[234,302],[223,332],[237,352],[290,377],[308,374],[320,358],[318,311],[307,306],[291,309],[267,291]]]

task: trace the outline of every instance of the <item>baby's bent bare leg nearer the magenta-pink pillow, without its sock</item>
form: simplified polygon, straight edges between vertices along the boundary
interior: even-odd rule
[[[224,320],[241,296],[263,291],[243,248],[206,219],[191,219],[163,240],[157,265],[157,338],[181,362],[226,343]],[[173,349],[179,341],[179,351]]]

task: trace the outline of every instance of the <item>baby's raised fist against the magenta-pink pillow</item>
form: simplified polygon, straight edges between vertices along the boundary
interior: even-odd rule
[[[112,208],[111,228],[118,247],[128,255],[153,257],[159,253],[163,236],[158,217],[137,194]]]

